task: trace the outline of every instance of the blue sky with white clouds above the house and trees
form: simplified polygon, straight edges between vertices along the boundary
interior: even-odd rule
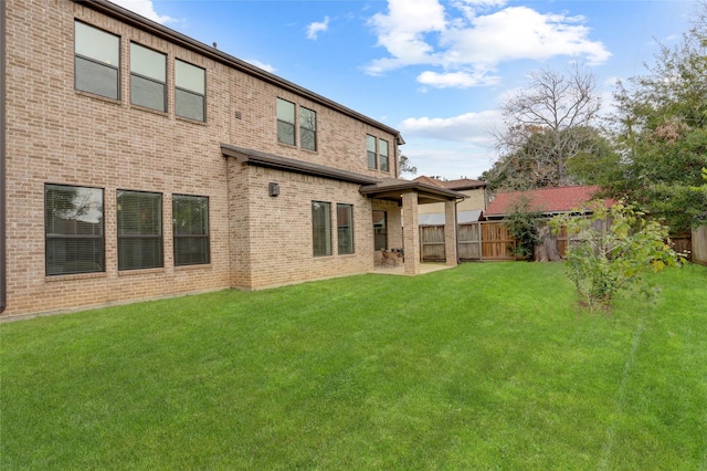
[[[688,0],[113,0],[402,133],[419,175],[477,178],[504,96],[583,64],[604,105],[674,45]],[[657,40],[657,41],[656,41]],[[411,178],[407,176],[407,178]]]

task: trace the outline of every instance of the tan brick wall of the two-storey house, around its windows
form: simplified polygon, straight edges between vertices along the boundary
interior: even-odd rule
[[[392,155],[392,135],[83,4],[66,0],[6,1],[8,306],[3,315],[229,286],[258,289],[372,268],[371,202],[358,193],[357,185],[242,166],[224,158],[220,144],[380,175],[367,168],[365,136],[369,133],[389,140]],[[122,36],[120,100],[74,90],[75,18]],[[166,113],[129,103],[130,41],[168,55]],[[207,70],[207,123],[175,116],[175,59]],[[277,143],[277,96],[317,112],[317,151]],[[267,196],[270,181],[281,184],[279,197]],[[45,276],[48,182],[104,189],[104,273]],[[118,271],[119,189],[162,193],[163,268]],[[208,265],[175,266],[170,223],[173,193],[209,197]],[[354,205],[354,255],[336,255],[334,230],[335,255],[313,257],[313,199],[330,201],[334,208],[336,202]]]

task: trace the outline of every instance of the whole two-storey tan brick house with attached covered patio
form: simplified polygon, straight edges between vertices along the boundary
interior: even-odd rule
[[[398,130],[105,0],[0,1],[0,53],[3,316],[365,273],[379,248],[416,274],[420,205],[465,198],[397,178]]]

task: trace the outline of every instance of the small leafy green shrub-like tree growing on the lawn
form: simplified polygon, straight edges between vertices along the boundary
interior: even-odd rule
[[[556,232],[566,228],[572,240],[566,255],[568,276],[585,306],[609,310],[614,296],[629,289],[654,299],[645,273],[682,262],[669,247],[667,228],[622,203],[606,208],[594,201],[590,209],[589,218],[560,214],[550,220]]]

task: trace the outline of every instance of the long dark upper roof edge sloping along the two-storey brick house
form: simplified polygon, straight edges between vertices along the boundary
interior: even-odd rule
[[[266,83],[278,86],[283,90],[292,92],[304,98],[312,100],[313,102],[324,105],[328,108],[336,109],[337,112],[344,115],[347,115],[362,123],[369,124],[373,127],[377,127],[379,129],[382,129],[387,133],[392,134],[393,136],[395,136],[395,142],[399,145],[405,144],[405,142],[403,140],[398,129],[387,126],[371,117],[362,115],[361,113],[358,113],[349,107],[346,107],[339,103],[336,103],[329,98],[326,98],[307,88],[304,88],[293,82],[286,81],[285,78],[282,78],[267,71],[264,71],[253,64],[250,64],[245,61],[242,61],[238,57],[226,54],[225,52],[219,51],[215,48],[207,45],[192,38],[181,34],[172,29],[169,29],[159,23],[156,23],[155,21],[148,20],[145,17],[141,17],[122,7],[118,7],[117,4],[112,3],[107,0],[92,0],[92,1],[73,0],[73,1],[84,7],[99,11],[104,14],[107,14],[108,17],[116,18],[124,23],[139,28],[144,31],[155,34],[158,38],[165,39],[173,44],[178,44],[187,50],[197,52],[198,54],[201,54],[221,64],[228,65],[229,67],[243,72],[247,75],[260,78]]]

